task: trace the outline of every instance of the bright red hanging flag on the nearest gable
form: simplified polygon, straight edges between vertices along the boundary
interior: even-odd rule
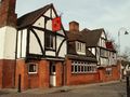
[[[61,30],[61,17],[55,17],[52,19],[52,31]]]

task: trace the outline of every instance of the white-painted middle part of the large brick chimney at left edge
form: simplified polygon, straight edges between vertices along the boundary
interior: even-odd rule
[[[16,29],[0,28],[0,59],[15,59]]]

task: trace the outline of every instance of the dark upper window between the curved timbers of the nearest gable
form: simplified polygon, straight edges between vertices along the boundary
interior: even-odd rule
[[[55,36],[46,33],[46,47],[49,50],[55,50]]]

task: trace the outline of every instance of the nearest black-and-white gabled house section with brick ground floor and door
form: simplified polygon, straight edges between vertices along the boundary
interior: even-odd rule
[[[17,27],[16,82],[21,74],[23,89],[63,85],[66,33],[53,4],[20,17]]]

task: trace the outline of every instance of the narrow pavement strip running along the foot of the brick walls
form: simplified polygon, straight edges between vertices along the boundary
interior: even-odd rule
[[[110,82],[104,82],[104,83],[61,86],[61,87],[52,87],[52,88],[31,88],[31,89],[24,91],[22,93],[24,94],[51,94],[51,93],[62,93],[62,92],[64,93],[64,92],[80,89],[80,88],[90,87],[90,86],[102,86],[102,85],[114,84],[114,83],[119,83],[119,82],[120,81],[110,81]],[[0,95],[1,94],[17,94],[17,93],[18,92],[16,88],[0,89]]]

